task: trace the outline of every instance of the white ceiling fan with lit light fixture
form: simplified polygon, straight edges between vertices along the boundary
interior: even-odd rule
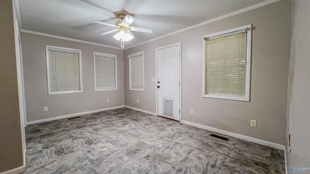
[[[130,41],[130,40],[135,38],[135,36],[131,33],[130,30],[146,32],[146,33],[152,33],[153,32],[153,29],[129,27],[129,25],[136,19],[133,16],[130,16],[124,12],[118,12],[115,15],[118,18],[120,18],[119,20],[117,20],[115,22],[115,25],[105,23],[105,22],[96,21],[96,20],[92,20],[92,22],[117,28],[117,29],[113,29],[113,30],[101,33],[100,35],[108,35],[108,34],[117,32],[116,34],[113,35],[113,38],[118,40],[118,41],[121,41],[121,47],[122,48],[124,48],[124,41]]]

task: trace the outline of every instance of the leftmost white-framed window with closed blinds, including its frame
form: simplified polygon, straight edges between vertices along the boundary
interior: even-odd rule
[[[81,50],[46,45],[48,95],[82,92]]]

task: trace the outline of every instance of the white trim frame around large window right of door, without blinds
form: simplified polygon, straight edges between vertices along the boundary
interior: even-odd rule
[[[250,99],[250,77],[251,77],[251,45],[252,45],[252,24],[245,25],[242,27],[237,27],[234,29],[228,29],[225,31],[220,31],[213,34],[208,34],[203,36],[202,38],[210,38],[218,35],[223,35],[227,33],[236,32],[239,30],[247,30],[247,73],[246,73],[246,96],[245,97],[236,97],[236,96],[228,96],[228,95],[215,95],[215,94],[205,94],[205,40],[202,39],[202,54],[203,54],[203,71],[202,71],[202,97],[204,98],[214,98],[214,99],[226,99],[226,100],[235,100],[235,101],[246,101],[249,102]],[[248,30],[249,29],[249,30]]]

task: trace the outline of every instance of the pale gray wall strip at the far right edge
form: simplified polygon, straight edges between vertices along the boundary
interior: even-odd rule
[[[292,151],[290,153],[287,146],[288,171],[291,167],[310,167],[310,1],[294,0],[293,3],[287,129],[291,133]]]

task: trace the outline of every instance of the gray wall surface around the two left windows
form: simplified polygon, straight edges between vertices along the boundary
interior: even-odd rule
[[[21,33],[27,121],[124,105],[123,50]],[[47,95],[45,45],[82,51],[83,93]],[[94,92],[93,52],[117,55],[118,90]],[[109,103],[107,103],[109,99]],[[44,112],[43,107],[48,111]]]

